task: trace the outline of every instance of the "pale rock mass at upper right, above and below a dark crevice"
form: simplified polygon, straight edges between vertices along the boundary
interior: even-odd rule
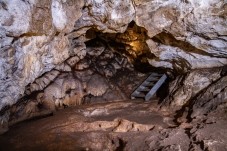
[[[187,47],[179,49],[168,44],[166,46],[166,43],[165,45],[152,44],[153,42],[149,39],[148,46],[156,56],[149,59],[151,65],[177,68],[185,72],[188,69],[220,67],[226,64],[227,44],[222,39],[223,35],[226,35],[226,28],[224,28],[226,18],[221,17],[226,11],[224,1],[192,0],[176,3],[163,0],[135,3],[137,5],[135,22],[147,29],[150,38],[167,32],[176,40],[190,43],[195,47],[194,49],[200,50],[196,53],[191,50],[188,52]],[[214,14],[216,17],[213,16]],[[209,22],[208,25],[207,22]],[[165,39],[165,37],[161,38]]]

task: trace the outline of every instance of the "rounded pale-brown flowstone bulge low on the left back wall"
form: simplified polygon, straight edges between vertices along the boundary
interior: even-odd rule
[[[44,89],[42,104],[55,110],[63,105],[80,105],[84,97],[83,87],[72,74],[60,75],[52,84]]]

